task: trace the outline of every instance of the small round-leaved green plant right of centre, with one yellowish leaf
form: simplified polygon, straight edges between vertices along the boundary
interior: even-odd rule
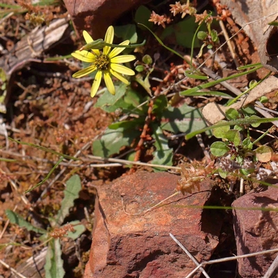
[[[211,154],[220,158],[220,162],[218,163],[220,176],[225,178],[228,174],[232,173],[241,174],[245,177],[252,174],[254,177],[254,174],[256,174],[256,179],[260,181],[264,180],[265,177],[274,175],[275,172],[256,166],[258,163],[269,163],[271,161],[273,154],[272,148],[262,145],[253,149],[256,142],[259,142],[259,140],[269,133],[269,130],[252,142],[248,127],[240,124],[240,122],[236,124],[236,120],[240,117],[238,111],[234,108],[229,108],[226,111],[226,117],[229,120],[235,121],[234,128],[231,129],[231,126],[225,125],[213,129],[213,136],[222,139],[222,141],[213,142],[211,145]],[[259,126],[259,122],[256,122],[256,120],[260,118],[256,115],[250,117],[245,116],[245,119],[254,120],[254,123],[251,124],[253,127]],[[220,124],[224,124],[225,122],[222,121]],[[244,134],[247,134],[245,139],[243,139],[245,137]],[[266,172],[268,174],[265,176]]]

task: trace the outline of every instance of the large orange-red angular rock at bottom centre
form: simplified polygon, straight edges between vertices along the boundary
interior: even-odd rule
[[[202,206],[211,196],[211,181],[193,195],[176,195],[148,213],[132,216],[172,195],[180,177],[136,172],[112,186],[97,188],[95,224],[85,278],[185,277],[195,264],[174,243],[172,233],[198,261],[208,260],[218,245],[220,215]],[[204,217],[202,217],[204,216]],[[195,277],[199,277],[199,272]]]

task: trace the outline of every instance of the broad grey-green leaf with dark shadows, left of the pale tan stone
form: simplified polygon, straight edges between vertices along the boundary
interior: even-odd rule
[[[201,111],[186,104],[178,108],[167,107],[161,120],[161,129],[173,133],[190,133],[206,126]]]

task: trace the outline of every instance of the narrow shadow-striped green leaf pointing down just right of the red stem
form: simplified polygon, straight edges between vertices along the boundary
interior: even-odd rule
[[[152,125],[152,129],[156,139],[156,142],[154,142],[156,151],[153,152],[152,164],[172,165],[173,150],[168,146],[168,140],[163,134],[163,130],[157,124]],[[159,170],[161,171],[161,168]]]

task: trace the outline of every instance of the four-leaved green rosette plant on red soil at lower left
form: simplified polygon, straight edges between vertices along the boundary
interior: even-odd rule
[[[65,275],[63,259],[61,258],[62,251],[60,238],[65,236],[75,240],[85,231],[85,227],[78,220],[63,224],[63,221],[70,213],[70,208],[74,205],[74,199],[79,197],[80,190],[81,181],[79,176],[75,174],[66,183],[64,199],[61,202],[60,210],[54,219],[49,219],[50,227],[48,231],[33,226],[14,211],[10,211],[9,209],[6,210],[6,215],[10,220],[10,223],[17,224],[21,228],[42,235],[40,236],[40,240],[48,246],[46,263],[44,265],[46,278],[63,278]]]

